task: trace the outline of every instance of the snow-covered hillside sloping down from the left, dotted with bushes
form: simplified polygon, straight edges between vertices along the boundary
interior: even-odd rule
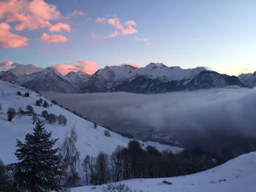
[[[14,152],[16,139],[20,141],[24,140],[27,133],[32,131],[34,125],[31,123],[30,116],[20,116],[16,115],[15,118],[9,122],[7,121],[6,112],[9,107],[15,108],[17,111],[19,107],[26,110],[27,105],[31,105],[37,114],[41,114],[43,110],[48,110],[48,113],[53,113],[55,115],[64,115],[67,118],[67,125],[60,126],[58,123],[48,124],[45,123],[45,128],[49,131],[53,131],[53,137],[59,138],[57,145],[61,145],[66,134],[69,133],[70,129],[74,126],[78,133],[77,147],[80,150],[81,158],[88,155],[97,155],[100,151],[105,153],[112,153],[117,145],[127,146],[130,139],[122,137],[119,134],[110,131],[111,137],[106,137],[104,135],[105,128],[98,126],[94,128],[94,123],[88,120],[74,115],[72,112],[64,110],[58,105],[52,105],[50,107],[38,107],[35,105],[37,99],[45,99],[34,91],[27,90],[26,88],[20,87],[18,85],[12,85],[9,82],[4,82],[0,80],[0,91],[4,92],[4,96],[0,97],[0,104],[2,105],[2,110],[0,111],[0,159],[4,161],[4,164],[10,164],[16,161]],[[25,93],[29,91],[29,97],[18,96],[16,93],[20,91]],[[45,99],[47,100],[47,99]],[[48,101],[48,100],[47,100]],[[50,101],[48,101],[50,103]],[[152,145],[157,147],[158,150],[169,149],[173,153],[181,151],[180,147],[171,147],[169,145],[160,145],[157,142],[142,142],[143,147]]]

